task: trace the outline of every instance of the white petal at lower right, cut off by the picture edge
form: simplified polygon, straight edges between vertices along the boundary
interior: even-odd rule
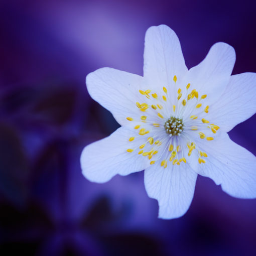
[[[199,165],[198,174],[221,184],[223,191],[231,196],[255,198],[256,157],[232,142],[226,133],[204,146],[208,157],[205,164]]]

